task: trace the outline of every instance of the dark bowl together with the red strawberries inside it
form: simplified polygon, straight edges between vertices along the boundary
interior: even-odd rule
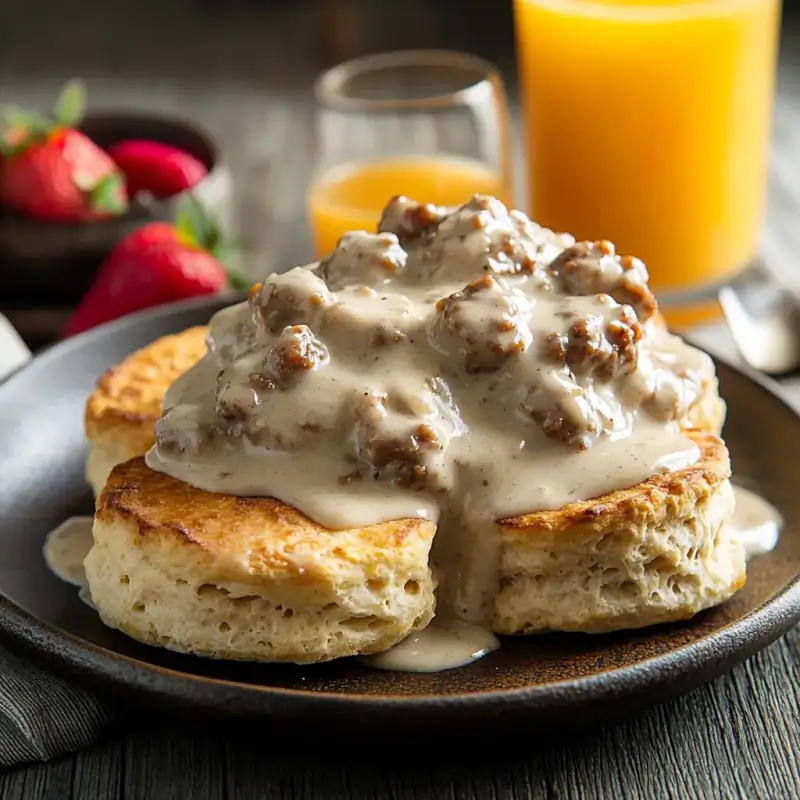
[[[77,305],[122,240],[154,222],[177,225],[189,202],[214,220],[217,238],[227,229],[230,175],[207,131],[148,113],[84,112],[79,81],[64,87],[49,116],[5,110],[4,304]]]

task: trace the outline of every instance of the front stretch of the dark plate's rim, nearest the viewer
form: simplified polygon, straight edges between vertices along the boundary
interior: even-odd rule
[[[765,615],[769,616],[766,625],[762,619]],[[430,706],[446,710],[468,706],[471,711],[481,711],[510,703],[530,709],[582,705],[590,700],[603,702],[631,694],[634,690],[654,689],[681,678],[691,681],[698,674],[716,677],[777,641],[798,622],[800,575],[766,603],[713,634],[626,667],[513,689],[390,695],[290,689],[182,672],[88,642],[39,620],[0,595],[0,633],[23,643],[42,660],[82,673],[84,678],[96,677],[128,690],[189,703],[201,699],[194,693],[201,687],[206,696],[225,689],[248,697],[256,696],[260,700],[311,704],[319,710],[324,710],[320,706],[328,709],[359,706],[410,711]],[[40,640],[48,641],[52,646],[42,648]],[[120,666],[119,672],[113,669],[115,663]],[[149,677],[157,677],[161,683],[154,685]]]

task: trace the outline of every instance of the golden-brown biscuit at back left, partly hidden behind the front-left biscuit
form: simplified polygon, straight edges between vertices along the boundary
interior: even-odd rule
[[[147,452],[170,385],[206,354],[208,328],[189,328],[137,350],[97,381],[84,413],[90,451],[86,479],[95,495],[115,464]]]

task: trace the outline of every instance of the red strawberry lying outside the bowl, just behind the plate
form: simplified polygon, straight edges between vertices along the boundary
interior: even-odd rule
[[[117,243],[64,334],[72,336],[144,308],[229,287],[248,288],[250,282],[230,261],[231,248],[218,226],[189,195],[175,225],[150,222]]]

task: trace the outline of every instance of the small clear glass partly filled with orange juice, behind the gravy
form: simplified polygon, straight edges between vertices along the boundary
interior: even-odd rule
[[[315,86],[317,163],[308,212],[318,257],[374,231],[395,195],[460,205],[510,201],[508,106],[490,63],[461,53],[385,53],[341,64]]]

